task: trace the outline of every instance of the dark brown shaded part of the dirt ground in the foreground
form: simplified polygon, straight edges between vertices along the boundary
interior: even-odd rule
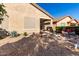
[[[51,42],[49,42],[51,40]],[[21,40],[8,43],[0,47],[1,56],[73,56],[79,53],[72,52],[63,44],[59,44],[51,37],[31,35]]]

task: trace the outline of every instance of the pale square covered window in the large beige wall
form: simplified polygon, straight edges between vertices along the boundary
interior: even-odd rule
[[[25,17],[24,18],[24,29],[33,29],[35,28],[35,18]]]

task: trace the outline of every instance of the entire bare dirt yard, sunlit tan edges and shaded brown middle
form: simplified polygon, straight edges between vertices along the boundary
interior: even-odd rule
[[[2,56],[76,56],[74,44],[54,34],[32,34],[0,40]]]

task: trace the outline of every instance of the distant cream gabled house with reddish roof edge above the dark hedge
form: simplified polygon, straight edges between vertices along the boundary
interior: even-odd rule
[[[76,26],[78,26],[78,21],[73,19],[70,16],[66,16],[63,19],[59,20],[56,23],[56,26],[71,26],[71,23],[74,23]]]

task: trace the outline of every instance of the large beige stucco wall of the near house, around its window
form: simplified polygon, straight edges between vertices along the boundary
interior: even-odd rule
[[[5,6],[9,18],[5,18],[7,21],[3,21],[1,26],[8,31],[17,31],[19,33],[39,32],[40,18],[51,19],[29,3],[7,3]],[[24,29],[24,19],[26,18],[28,21],[28,17],[35,20],[35,28]]]

